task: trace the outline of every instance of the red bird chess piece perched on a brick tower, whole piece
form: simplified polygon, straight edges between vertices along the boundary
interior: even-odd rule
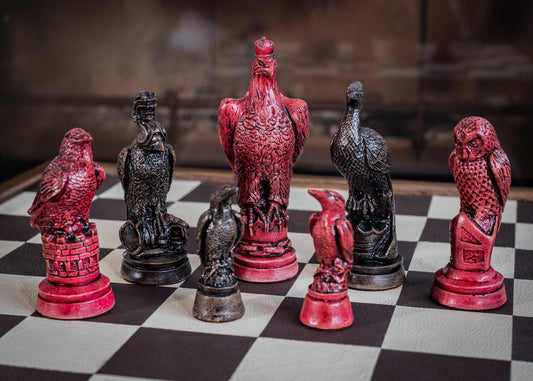
[[[109,278],[100,274],[96,225],[89,222],[92,199],[105,179],[91,141],[81,128],[65,134],[28,210],[31,226],[41,231],[46,262],[37,311],[56,319],[96,316],[115,305]]]

